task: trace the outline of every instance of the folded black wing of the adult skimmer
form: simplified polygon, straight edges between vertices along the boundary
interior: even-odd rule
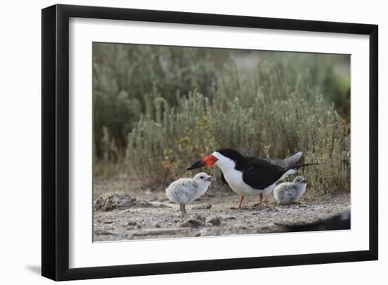
[[[277,182],[286,171],[286,167],[269,159],[252,157],[243,169],[243,181],[252,188],[264,190]]]

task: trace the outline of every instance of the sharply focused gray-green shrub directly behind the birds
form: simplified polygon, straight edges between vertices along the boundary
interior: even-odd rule
[[[337,114],[308,73],[262,63],[249,73],[228,68],[214,97],[189,92],[171,106],[147,96],[147,113],[128,135],[131,169],[147,186],[181,176],[191,162],[221,147],[243,154],[283,158],[303,151],[305,176],[315,193],[348,190],[348,123]],[[217,167],[206,169],[218,174]]]

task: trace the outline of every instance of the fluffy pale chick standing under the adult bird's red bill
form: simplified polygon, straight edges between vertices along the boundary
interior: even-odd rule
[[[207,191],[212,181],[216,178],[201,172],[194,178],[179,178],[166,188],[166,195],[169,200],[179,204],[182,215],[186,214],[186,204],[193,202]]]

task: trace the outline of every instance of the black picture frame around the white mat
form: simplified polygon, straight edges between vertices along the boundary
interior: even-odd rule
[[[71,17],[369,35],[369,250],[69,269]],[[59,281],[377,260],[377,51],[377,25],[92,6],[54,5],[42,9],[42,275]]]

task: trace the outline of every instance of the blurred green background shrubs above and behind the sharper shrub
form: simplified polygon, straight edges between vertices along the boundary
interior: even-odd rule
[[[257,59],[260,68],[255,69]],[[127,135],[140,116],[153,118],[155,99],[178,107],[178,98],[194,91],[226,111],[226,102],[234,97],[245,108],[257,95],[284,99],[296,87],[308,86],[317,91],[309,92],[310,100],[324,94],[349,122],[349,66],[350,57],[341,55],[94,43],[95,161],[123,157]]]

